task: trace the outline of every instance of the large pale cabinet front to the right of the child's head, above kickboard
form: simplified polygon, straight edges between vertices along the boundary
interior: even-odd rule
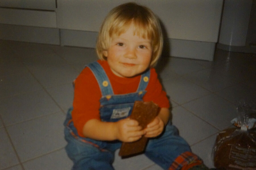
[[[223,0],[137,0],[152,9],[171,39],[217,42]]]

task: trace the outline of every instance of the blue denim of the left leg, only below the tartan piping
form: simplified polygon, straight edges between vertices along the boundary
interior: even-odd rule
[[[113,152],[77,140],[67,128],[65,128],[65,139],[68,142],[65,149],[74,163],[73,170],[113,169]]]

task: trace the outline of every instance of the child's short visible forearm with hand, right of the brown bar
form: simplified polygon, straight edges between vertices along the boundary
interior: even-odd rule
[[[158,116],[144,129],[146,131],[145,137],[157,137],[160,135],[169,121],[169,116],[169,109],[161,108]]]

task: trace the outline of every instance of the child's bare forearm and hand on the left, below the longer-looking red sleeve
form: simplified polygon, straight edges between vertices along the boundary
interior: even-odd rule
[[[100,141],[120,140],[123,142],[133,142],[139,140],[145,134],[136,120],[129,118],[118,122],[102,122],[91,119],[83,127],[85,137]]]

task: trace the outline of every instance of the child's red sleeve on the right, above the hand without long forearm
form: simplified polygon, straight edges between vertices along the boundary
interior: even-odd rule
[[[154,68],[150,70],[150,79],[146,91],[147,92],[143,97],[144,101],[153,101],[161,108],[170,107],[166,92],[162,90],[162,85],[157,78],[156,70]]]

